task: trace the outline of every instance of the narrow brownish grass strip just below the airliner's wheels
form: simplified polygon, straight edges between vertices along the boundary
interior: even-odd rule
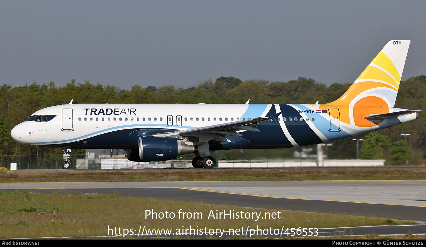
[[[425,180],[426,169],[119,169],[0,172],[0,182]]]

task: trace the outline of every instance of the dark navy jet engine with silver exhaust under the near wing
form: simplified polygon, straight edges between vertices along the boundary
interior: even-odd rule
[[[195,146],[183,144],[176,138],[156,136],[139,138],[139,158],[142,161],[167,161],[194,151]]]

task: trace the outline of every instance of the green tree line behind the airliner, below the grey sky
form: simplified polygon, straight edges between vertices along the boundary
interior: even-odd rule
[[[9,84],[0,86],[0,155],[47,155],[59,154],[60,149],[38,148],[17,143],[10,136],[11,129],[25,121],[33,112],[49,106],[73,103],[329,103],[339,98],[349,88],[351,83],[334,83],[326,86],[311,78],[299,77],[297,80],[269,81],[245,80],[234,77],[220,77],[216,80],[205,80],[196,86],[176,88],[175,86],[132,86],[130,90],[117,86],[82,83],[71,80],[65,86],[55,86],[54,82],[39,84],[35,81],[25,86],[13,87]],[[426,76],[408,78],[401,82],[395,107],[404,109],[425,110],[426,106]],[[371,148],[367,138],[362,144],[361,157],[385,158],[389,164],[422,163],[425,158],[426,124],[420,112],[420,119],[380,131],[389,140],[380,142],[379,147]],[[393,145],[403,139],[400,134],[411,134],[405,142],[409,157],[395,158],[392,156]],[[377,136],[375,137],[377,138]],[[372,138],[374,139],[374,138]],[[377,140],[376,140],[377,141]],[[351,138],[334,141],[328,149],[329,158],[355,158],[356,145]],[[404,144],[404,143],[403,143]],[[368,146],[370,145],[370,146]],[[268,157],[291,157],[294,149],[251,150],[246,157],[253,158],[268,153]],[[404,147],[400,149],[405,150]],[[372,152],[373,150],[374,152]],[[379,151],[377,151],[379,150]],[[246,152],[245,152],[246,153]],[[393,152],[395,153],[395,152]],[[223,155],[238,156],[233,151]],[[400,155],[399,155],[400,156]],[[244,158],[244,155],[241,157]]]

